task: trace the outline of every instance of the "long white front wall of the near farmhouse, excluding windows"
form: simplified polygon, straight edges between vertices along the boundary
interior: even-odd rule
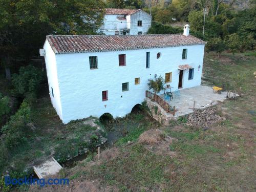
[[[182,49],[187,50],[187,59],[182,59]],[[150,68],[146,69],[146,52],[150,52]],[[161,53],[159,59],[157,53]],[[118,54],[126,54],[126,66],[119,67]],[[57,72],[61,93],[62,120],[100,117],[110,113],[122,117],[130,113],[133,106],[141,103],[148,89],[148,79],[154,75],[165,77],[172,72],[173,91],[178,89],[179,65],[195,68],[194,79],[188,80],[184,70],[183,88],[201,84],[204,45],[172,48],[156,48],[114,52],[57,54]],[[98,69],[90,70],[89,56],[97,56]],[[198,71],[198,66],[201,68]],[[134,79],[139,77],[140,84]],[[129,91],[122,92],[122,83],[129,82]],[[102,101],[102,91],[108,90],[108,101]]]

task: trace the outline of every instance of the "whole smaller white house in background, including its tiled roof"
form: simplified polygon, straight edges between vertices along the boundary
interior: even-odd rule
[[[100,32],[105,35],[144,35],[151,26],[152,16],[141,9],[105,9]]]

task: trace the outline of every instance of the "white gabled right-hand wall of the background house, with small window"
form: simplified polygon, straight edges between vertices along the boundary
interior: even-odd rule
[[[131,24],[130,24],[130,34],[131,35],[138,35],[139,31],[142,31],[142,34],[146,34],[148,29],[151,26],[151,15],[140,10],[137,11],[136,13],[131,15],[131,19],[127,19],[130,20]],[[139,27],[138,26],[138,20],[142,20],[142,26]]]

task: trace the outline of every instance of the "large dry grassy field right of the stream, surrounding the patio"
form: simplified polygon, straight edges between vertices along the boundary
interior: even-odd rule
[[[248,112],[256,109],[254,55],[224,52],[218,58],[215,53],[205,54],[204,84],[224,83],[226,90],[242,87],[242,97],[217,106],[218,114],[226,120],[207,131],[186,126],[186,117],[161,127],[175,138],[165,149],[166,154],[172,152],[169,156],[155,154],[136,142],[148,127],[133,123],[135,118],[129,122],[122,119],[111,125],[130,127],[116,144],[120,154],[89,167],[86,179],[97,179],[101,186],[115,186],[119,191],[254,191],[256,119]],[[127,141],[134,143],[127,145]]]

